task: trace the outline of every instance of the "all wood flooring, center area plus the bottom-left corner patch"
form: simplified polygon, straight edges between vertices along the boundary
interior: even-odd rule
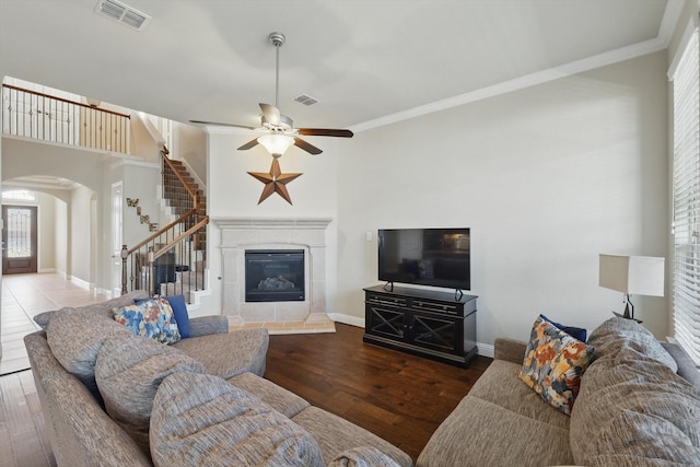
[[[418,457],[491,359],[460,369],[369,346],[363,329],[270,336],[266,377]],[[0,377],[0,467],[54,466],[30,371]]]

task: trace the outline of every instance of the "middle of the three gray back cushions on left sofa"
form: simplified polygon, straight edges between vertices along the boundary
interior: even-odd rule
[[[95,380],[105,409],[145,453],[158,387],[166,376],[185,371],[203,373],[205,367],[177,349],[151,339],[109,339],[100,349]]]

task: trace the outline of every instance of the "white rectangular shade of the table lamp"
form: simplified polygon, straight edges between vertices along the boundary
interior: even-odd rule
[[[600,255],[598,285],[635,295],[664,296],[665,258]]]

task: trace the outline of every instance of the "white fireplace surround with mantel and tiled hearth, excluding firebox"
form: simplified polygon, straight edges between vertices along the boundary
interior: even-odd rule
[[[222,312],[236,327],[270,334],[332,332],[326,314],[326,218],[221,218]],[[303,249],[303,302],[246,302],[246,249]]]

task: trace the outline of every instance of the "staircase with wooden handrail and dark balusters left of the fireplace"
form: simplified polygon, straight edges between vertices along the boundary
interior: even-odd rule
[[[121,293],[143,289],[150,294],[183,294],[189,303],[189,292],[205,287],[207,258],[201,238],[209,217],[198,190],[187,183],[167,154],[163,148],[163,197],[179,217],[138,245],[122,246]]]

